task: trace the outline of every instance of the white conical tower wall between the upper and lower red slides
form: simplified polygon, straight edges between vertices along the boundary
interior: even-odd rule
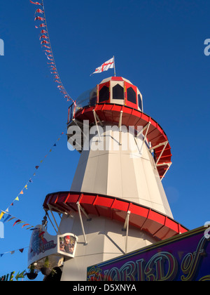
[[[105,126],[100,138],[98,135],[91,138],[90,150],[83,150],[71,191],[118,197],[172,217],[158,169],[147,143],[132,136],[126,128],[122,128],[125,130],[120,135],[118,126],[112,127]],[[120,136],[122,143],[127,145],[125,150],[123,144],[120,145]],[[102,150],[95,150],[97,145]],[[108,149],[105,145],[109,146]]]

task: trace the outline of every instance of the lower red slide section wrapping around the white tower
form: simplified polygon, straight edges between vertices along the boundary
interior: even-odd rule
[[[86,192],[55,192],[45,197],[43,208],[49,209],[48,204],[50,204],[53,206],[52,211],[69,213],[73,210],[77,212],[77,202],[80,202],[80,206],[83,206],[87,214],[104,216],[122,223],[125,222],[127,211],[130,211],[130,225],[160,240],[188,231],[183,225],[165,214],[137,203],[105,195]]]

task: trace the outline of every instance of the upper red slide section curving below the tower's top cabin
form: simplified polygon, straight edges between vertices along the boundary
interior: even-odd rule
[[[151,150],[155,151],[155,162],[160,178],[164,178],[169,166],[172,164],[171,147],[166,133],[162,127],[144,112],[135,110],[125,105],[116,105],[111,103],[102,103],[94,106],[83,107],[74,114],[73,119],[79,122],[89,120],[90,124],[95,123],[94,114],[101,122],[110,124],[119,124],[120,114],[122,115],[122,126],[134,126],[137,130],[138,126],[143,127],[143,134],[151,143]],[[69,126],[74,121],[68,122]]]

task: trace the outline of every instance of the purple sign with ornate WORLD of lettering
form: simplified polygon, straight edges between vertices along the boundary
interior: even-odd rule
[[[87,281],[210,281],[210,238],[197,228],[87,268]]]

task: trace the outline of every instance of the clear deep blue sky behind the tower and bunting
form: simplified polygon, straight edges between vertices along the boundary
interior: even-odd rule
[[[28,0],[3,1],[0,39],[1,197],[5,210],[34,173],[34,166],[66,133],[69,103],[57,91]],[[176,221],[193,229],[209,216],[209,0],[45,0],[57,69],[73,98],[113,70],[90,74],[113,55],[116,74],[138,86],[144,112],[165,130],[172,167],[162,181]],[[44,160],[9,213],[37,225],[45,195],[69,190],[79,155],[66,136]],[[50,228],[50,233],[54,235]],[[0,253],[29,246],[31,232],[5,225]],[[27,249],[0,258],[0,276],[27,268]],[[38,280],[42,277],[39,276]]]

